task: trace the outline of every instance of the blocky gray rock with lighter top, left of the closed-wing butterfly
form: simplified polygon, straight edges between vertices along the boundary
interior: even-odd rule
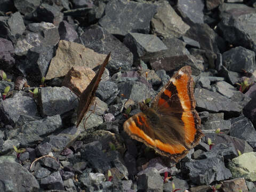
[[[67,87],[42,87],[38,94],[42,116],[62,114],[77,107],[76,95]]]

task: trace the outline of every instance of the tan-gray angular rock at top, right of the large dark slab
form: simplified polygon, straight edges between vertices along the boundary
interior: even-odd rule
[[[177,37],[184,35],[189,26],[182,21],[167,1],[156,2],[157,13],[151,20],[153,34],[162,37]],[[171,18],[171,19],[170,19]]]

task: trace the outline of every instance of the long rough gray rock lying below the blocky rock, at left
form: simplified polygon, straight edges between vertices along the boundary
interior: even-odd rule
[[[19,120],[20,121],[20,120]],[[59,115],[45,117],[42,120],[29,121],[17,125],[18,129],[10,133],[10,137],[17,139],[22,146],[29,146],[42,141],[45,135],[49,135],[61,128]]]

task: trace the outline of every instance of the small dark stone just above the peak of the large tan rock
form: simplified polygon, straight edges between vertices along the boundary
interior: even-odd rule
[[[74,42],[78,38],[76,30],[67,21],[61,21],[58,30],[60,40]]]

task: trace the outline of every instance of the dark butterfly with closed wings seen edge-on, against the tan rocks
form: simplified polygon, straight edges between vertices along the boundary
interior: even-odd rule
[[[100,66],[100,69],[98,70],[97,74],[95,74],[90,84],[86,87],[86,89],[81,93],[79,97],[78,109],[77,109],[77,125],[76,125],[77,127],[81,123],[84,117],[84,114],[87,112],[87,110],[90,107],[94,94],[100,83],[101,76],[105,70],[106,65],[108,64],[109,58],[110,58],[110,53],[108,53],[107,57],[103,61],[102,65]]]

